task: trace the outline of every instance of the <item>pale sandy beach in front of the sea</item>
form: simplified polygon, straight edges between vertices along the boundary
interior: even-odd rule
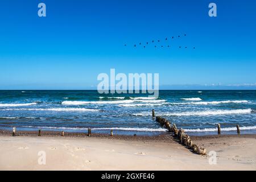
[[[0,131],[1,170],[255,170],[256,135],[192,137],[193,142],[216,151],[210,156],[193,154],[170,134],[128,137],[57,132]],[[39,164],[40,151],[46,164]],[[42,154],[42,153],[41,153]],[[41,159],[41,158],[40,158]],[[210,160],[212,161],[212,160]]]

